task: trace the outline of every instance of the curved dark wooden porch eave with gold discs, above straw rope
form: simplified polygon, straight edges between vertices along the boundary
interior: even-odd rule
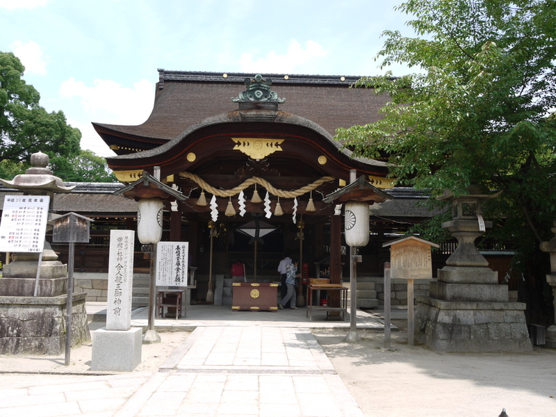
[[[209,118],[151,151],[108,157],[106,161],[114,171],[152,172],[153,166],[160,166],[161,177],[181,171],[229,175],[249,161],[247,155],[234,149],[236,142],[232,138],[263,138],[283,140],[282,150],[266,158],[282,177],[327,174],[347,179],[352,169],[377,177],[385,177],[388,172],[386,163],[350,158],[349,152],[342,152],[326,131],[302,117],[276,112],[278,122],[243,122],[240,113],[245,112]],[[195,155],[193,161],[188,160],[190,154]]]

